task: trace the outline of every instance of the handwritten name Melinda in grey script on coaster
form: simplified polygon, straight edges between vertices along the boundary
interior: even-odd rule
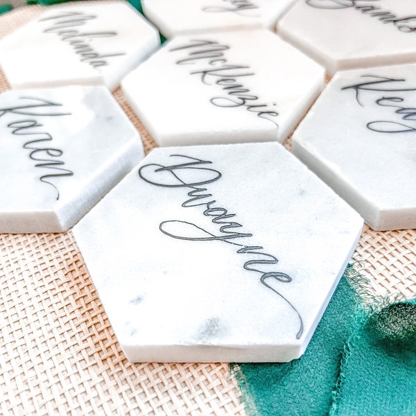
[[[123,52],[99,53],[94,48],[94,41],[103,37],[114,37],[115,31],[79,31],[80,26],[87,26],[89,21],[97,19],[96,15],[87,15],[84,12],[60,12],[40,19],[51,25],[44,29],[44,33],[58,35],[62,42],[69,44],[74,53],[80,55],[80,61],[86,62],[93,68],[105,67],[109,64],[108,58],[125,55]]]

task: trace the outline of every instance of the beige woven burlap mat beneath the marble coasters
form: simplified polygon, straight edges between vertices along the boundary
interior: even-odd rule
[[[1,16],[0,37],[42,10]],[[114,96],[148,152],[153,139],[121,89]],[[354,257],[375,293],[416,296],[415,241],[416,230],[365,227]],[[0,250],[1,415],[245,414],[225,363],[127,361],[71,232],[0,234]]]

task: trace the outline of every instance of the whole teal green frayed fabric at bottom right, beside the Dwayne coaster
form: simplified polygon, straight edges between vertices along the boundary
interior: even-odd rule
[[[301,358],[232,367],[248,415],[416,415],[416,302],[370,308],[364,284],[349,265]]]

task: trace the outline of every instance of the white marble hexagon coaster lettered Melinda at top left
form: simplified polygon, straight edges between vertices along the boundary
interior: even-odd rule
[[[53,6],[0,40],[12,88],[118,87],[159,46],[156,29],[126,2]]]

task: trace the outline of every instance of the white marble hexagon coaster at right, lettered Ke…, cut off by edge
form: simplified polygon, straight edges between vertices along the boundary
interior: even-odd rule
[[[416,65],[338,73],[293,153],[373,229],[416,228]]]

